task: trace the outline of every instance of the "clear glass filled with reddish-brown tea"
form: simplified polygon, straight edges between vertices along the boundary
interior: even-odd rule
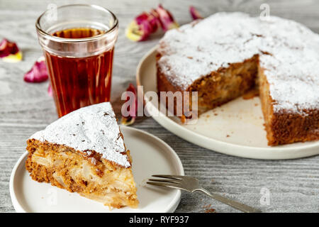
[[[94,5],[53,5],[36,22],[59,117],[109,101],[118,19]]]

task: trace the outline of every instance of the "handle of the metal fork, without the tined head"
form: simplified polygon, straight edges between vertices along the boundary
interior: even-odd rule
[[[262,212],[259,209],[254,209],[252,206],[247,206],[238,201],[234,201],[224,196],[220,196],[219,194],[212,194],[211,192],[208,192],[206,189],[203,189],[203,188],[196,189],[195,191],[203,192],[207,194],[208,196],[211,196],[211,198],[216,199],[217,201],[220,201],[223,204],[227,204],[228,206],[232,206],[233,208],[243,211],[245,213],[261,213]]]

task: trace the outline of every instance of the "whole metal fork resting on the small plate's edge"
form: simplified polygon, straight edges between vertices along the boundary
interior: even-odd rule
[[[177,176],[177,175],[152,175],[152,177],[159,177],[162,179],[149,179],[147,184],[152,184],[161,187],[172,187],[175,189],[185,190],[187,192],[196,192],[200,191],[211,198],[216,199],[217,201],[222,202],[223,204],[227,204],[228,206],[232,206],[235,209],[243,211],[245,213],[261,213],[262,211],[259,209],[254,209],[251,206],[247,206],[245,204],[241,204],[238,201],[233,201],[224,196],[220,196],[218,194],[212,194],[208,192],[206,189],[203,189],[201,185],[198,183],[198,179],[194,177],[186,177],[186,176]]]

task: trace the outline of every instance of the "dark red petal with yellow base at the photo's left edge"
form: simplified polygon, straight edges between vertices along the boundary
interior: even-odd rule
[[[19,51],[16,43],[4,38],[0,43],[0,57],[5,62],[19,62],[22,60],[22,52]]]

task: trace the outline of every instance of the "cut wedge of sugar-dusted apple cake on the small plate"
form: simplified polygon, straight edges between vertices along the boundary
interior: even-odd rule
[[[73,111],[27,143],[26,170],[35,181],[114,208],[138,206],[130,151],[109,102]]]

